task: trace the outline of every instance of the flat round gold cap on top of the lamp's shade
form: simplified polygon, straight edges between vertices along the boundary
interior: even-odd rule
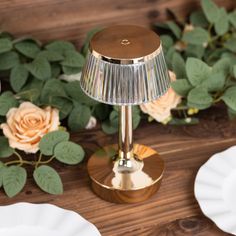
[[[90,52],[105,61],[133,64],[155,57],[161,50],[159,36],[136,25],[116,25],[97,32],[90,41]]]

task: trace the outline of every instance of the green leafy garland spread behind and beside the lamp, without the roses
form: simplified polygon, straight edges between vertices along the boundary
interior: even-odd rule
[[[162,47],[170,70],[177,80],[172,89],[182,97],[175,109],[184,118],[174,115],[169,124],[188,125],[199,122],[191,117],[199,110],[219,102],[227,107],[230,119],[236,118],[236,11],[227,12],[212,0],[202,0],[201,9],[191,13],[183,22],[157,23]],[[0,33],[0,72],[9,77],[12,91],[0,95],[0,120],[22,101],[38,106],[52,106],[60,110],[60,119],[72,131],[84,129],[91,116],[101,121],[108,134],[118,131],[118,107],[98,103],[82,91],[79,83],[91,37],[100,29],[88,33],[81,51],[71,42],[53,41],[43,45],[33,38],[15,39],[7,32]],[[72,82],[68,80],[72,79]],[[179,113],[178,112],[178,113]],[[133,106],[133,128],[137,128],[144,114]],[[174,114],[174,113],[173,113]],[[150,119],[149,119],[150,120]],[[9,197],[19,193],[26,182],[24,165],[32,165],[36,184],[45,192],[62,194],[63,185],[57,171],[48,164],[57,160],[75,165],[84,158],[84,150],[69,141],[66,131],[46,134],[39,144],[39,156],[24,160],[0,137],[0,187]],[[8,157],[17,157],[8,160]]]

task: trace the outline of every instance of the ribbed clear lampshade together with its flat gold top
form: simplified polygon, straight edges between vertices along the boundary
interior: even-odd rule
[[[154,32],[120,25],[93,36],[81,77],[88,96],[111,105],[135,105],[156,100],[169,84],[160,38]]]

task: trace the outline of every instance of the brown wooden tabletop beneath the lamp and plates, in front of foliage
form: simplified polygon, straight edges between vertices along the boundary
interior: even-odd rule
[[[64,182],[63,195],[43,193],[31,178],[17,197],[9,199],[1,193],[0,204],[52,203],[80,213],[103,236],[229,235],[201,213],[193,185],[197,170],[212,154],[236,144],[236,124],[226,122],[222,116],[206,115],[202,119],[201,124],[192,127],[144,122],[135,131],[136,142],[158,150],[166,163],[159,192],[146,202],[131,205],[105,202],[90,190],[86,163],[72,167],[55,163]],[[101,145],[116,142],[116,136],[105,135],[100,129],[78,132],[72,139],[86,148],[87,157]]]

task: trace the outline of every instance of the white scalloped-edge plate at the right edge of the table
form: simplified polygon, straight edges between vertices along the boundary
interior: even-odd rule
[[[194,192],[202,212],[236,235],[236,146],[213,155],[199,169]]]

